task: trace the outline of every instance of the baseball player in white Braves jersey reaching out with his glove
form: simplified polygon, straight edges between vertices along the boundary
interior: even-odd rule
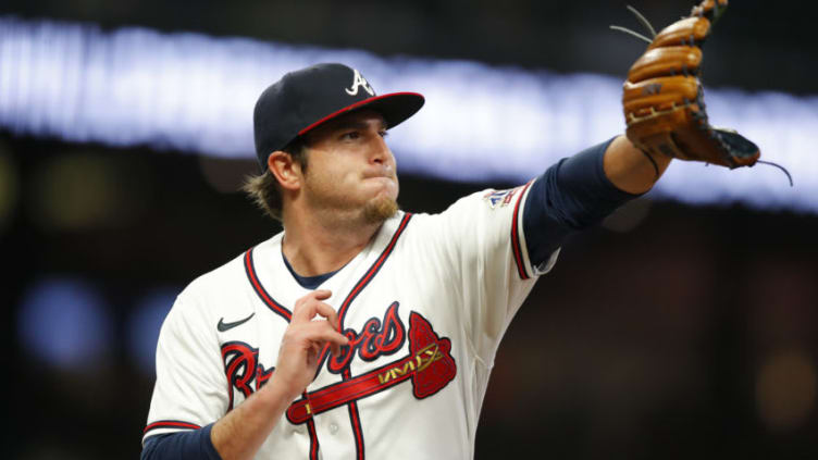
[[[699,30],[723,4],[671,27]],[[643,60],[678,53],[664,34]],[[398,210],[385,141],[421,95],[376,96],[342,64],[270,86],[255,109],[263,173],[246,188],[284,231],[179,294],[142,458],[472,458],[499,340],[562,238],[647,191],[672,157],[758,157],[709,134],[701,95],[685,92],[695,66],[634,77],[641,62],[625,84],[628,137],[435,215]]]

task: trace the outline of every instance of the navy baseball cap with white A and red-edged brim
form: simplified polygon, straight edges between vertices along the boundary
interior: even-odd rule
[[[340,115],[371,109],[392,128],[418,112],[423,102],[418,92],[377,96],[360,72],[344,64],[317,64],[290,72],[256,102],[253,133],[261,171],[267,171],[270,153]]]

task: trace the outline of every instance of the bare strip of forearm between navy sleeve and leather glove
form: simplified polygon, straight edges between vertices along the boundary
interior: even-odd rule
[[[640,195],[649,190],[670,164],[670,157],[653,156],[656,165],[645,153],[633,147],[624,136],[614,139],[605,151],[605,175],[620,190]]]

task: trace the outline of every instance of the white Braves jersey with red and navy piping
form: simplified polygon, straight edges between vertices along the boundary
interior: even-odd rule
[[[529,184],[530,185],[530,184]],[[537,275],[529,185],[398,212],[320,288],[349,337],[257,459],[470,459],[499,340]],[[278,234],[194,281],[160,334],[145,437],[215,422],[271,376],[296,300]]]

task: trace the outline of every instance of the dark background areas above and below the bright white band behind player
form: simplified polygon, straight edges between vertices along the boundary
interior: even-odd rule
[[[692,5],[632,4],[657,28]],[[818,92],[813,10],[734,1],[707,45],[706,84]],[[640,28],[624,3],[604,1],[7,0],[8,13],[619,76],[642,49],[607,28]],[[2,130],[0,157],[12,172],[0,219],[7,451],[137,458],[153,376],[124,343],[134,299],[181,288],[278,231],[240,194],[213,186],[219,171],[222,189],[235,190],[255,164]],[[107,181],[76,174],[44,187],[65,162],[90,164]],[[439,211],[488,185],[511,184],[402,176],[400,202]],[[99,192],[112,197],[107,211],[73,226],[48,219]],[[648,194],[573,235],[500,346],[476,457],[816,458],[816,234],[815,215],[692,208]],[[55,368],[21,340],[21,299],[53,275],[88,279],[115,306],[116,339],[102,362]]]

